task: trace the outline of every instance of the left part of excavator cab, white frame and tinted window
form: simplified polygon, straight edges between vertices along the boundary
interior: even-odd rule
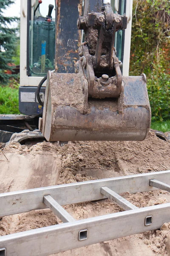
[[[25,115],[42,115],[36,91],[48,70],[54,70],[56,12],[55,0],[21,0],[19,110]],[[45,83],[42,101],[44,96]]]

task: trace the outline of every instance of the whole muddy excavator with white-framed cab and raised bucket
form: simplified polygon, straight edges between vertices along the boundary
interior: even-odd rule
[[[132,2],[48,4],[21,1],[19,110],[24,116],[14,119],[24,119],[27,130],[17,128],[8,143],[144,140],[151,120],[146,76],[128,76]]]

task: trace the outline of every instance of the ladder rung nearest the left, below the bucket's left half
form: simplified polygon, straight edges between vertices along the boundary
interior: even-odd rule
[[[43,203],[54,212],[62,222],[72,222],[75,219],[51,195],[45,195]]]

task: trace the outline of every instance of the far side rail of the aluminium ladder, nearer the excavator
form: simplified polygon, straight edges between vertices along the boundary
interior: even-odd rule
[[[44,195],[51,195],[58,204],[63,206],[104,199],[105,196],[101,194],[102,186],[113,189],[117,194],[152,191],[156,188],[149,185],[151,179],[170,183],[170,170],[0,194],[0,218],[21,212],[47,208],[43,203]]]

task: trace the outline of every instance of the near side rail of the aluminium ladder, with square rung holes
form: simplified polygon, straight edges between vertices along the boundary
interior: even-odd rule
[[[170,222],[170,203],[28,230],[0,237],[7,256],[47,256],[90,244],[159,229]],[[146,218],[152,216],[147,224]],[[146,225],[145,225],[146,224]],[[86,239],[81,233],[88,230]]]

